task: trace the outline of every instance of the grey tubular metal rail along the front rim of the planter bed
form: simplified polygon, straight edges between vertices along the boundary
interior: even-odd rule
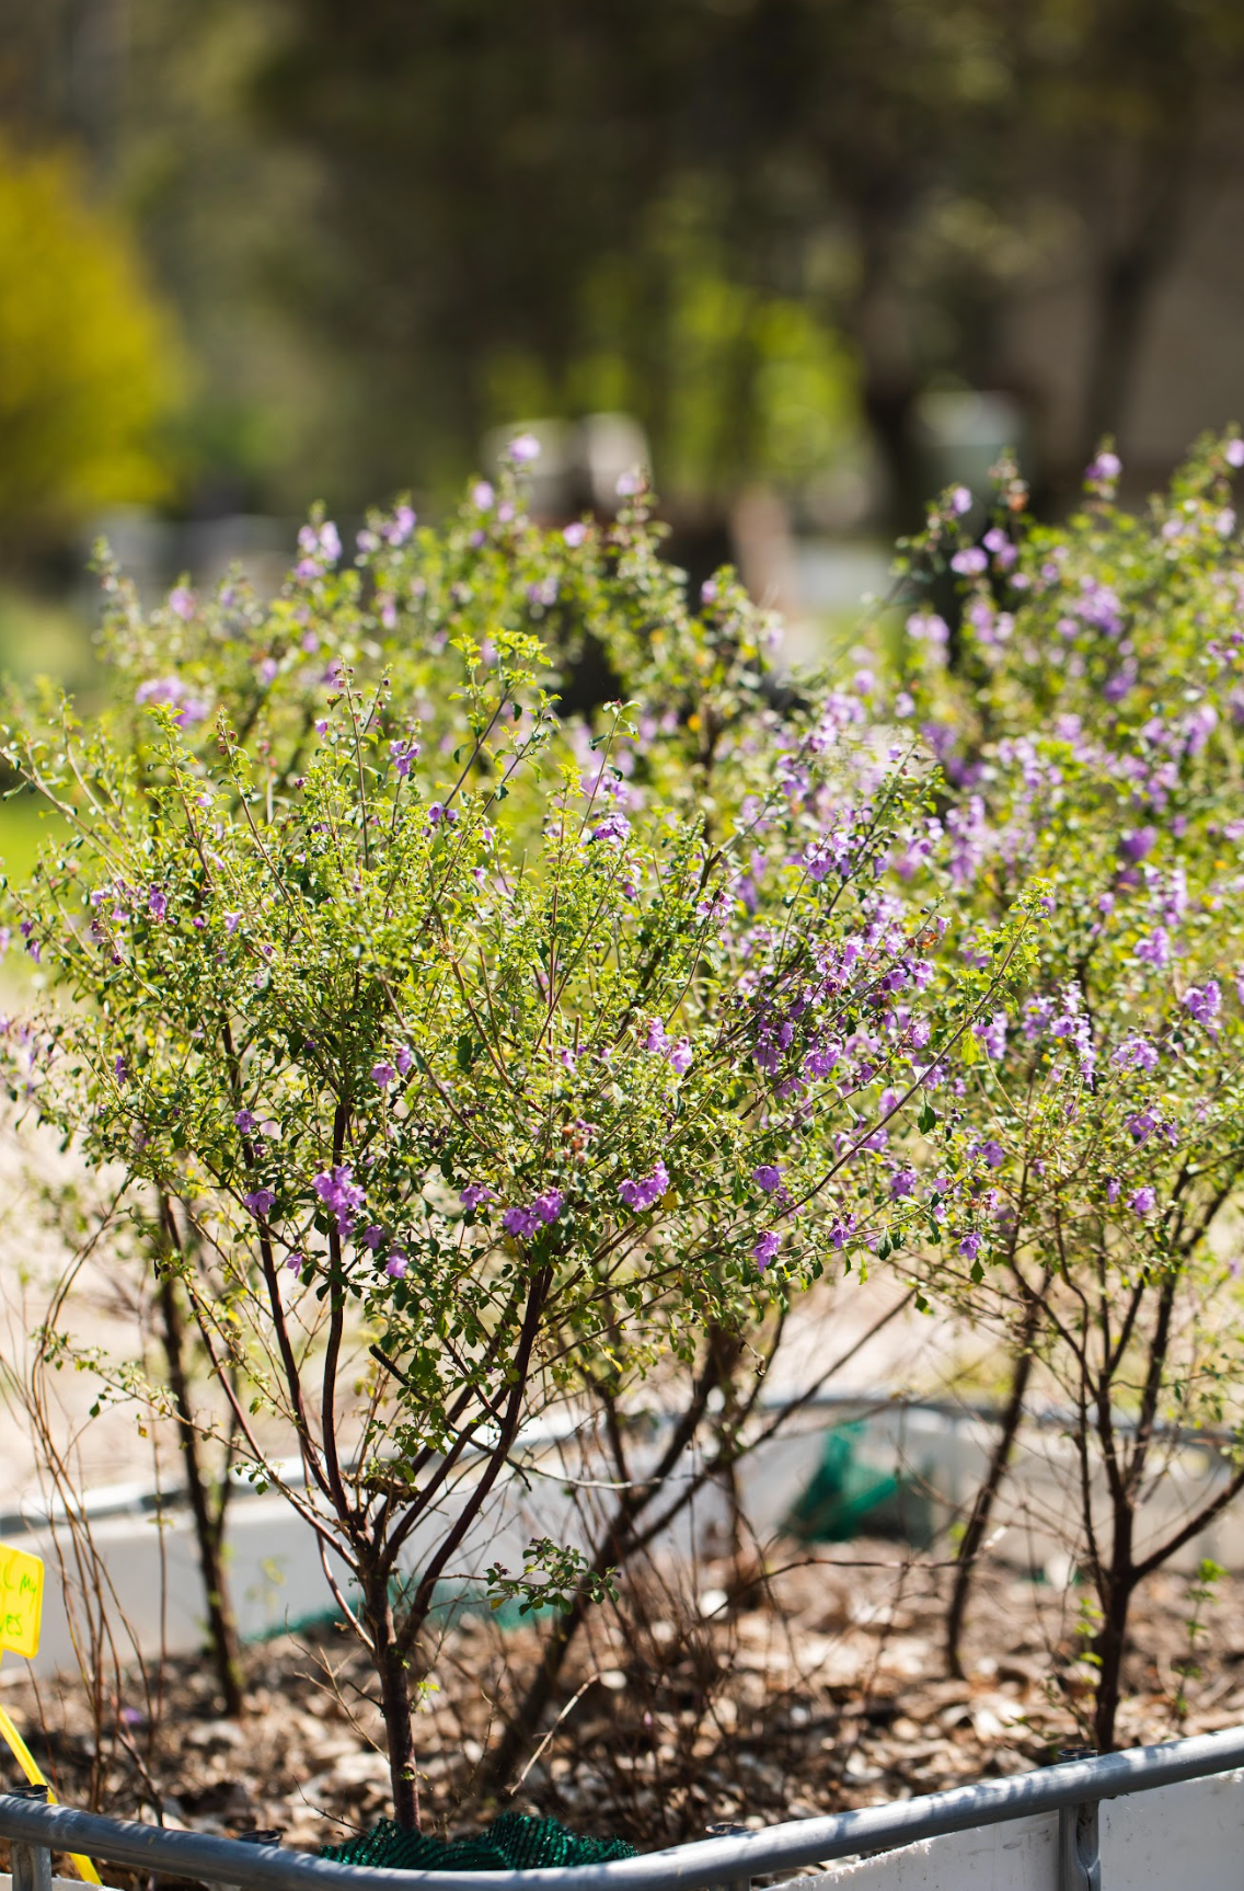
[[[1159,1747],[1076,1759],[932,1793],[892,1806],[792,1819],[758,1832],[703,1838],[613,1865],[524,1872],[389,1872],[333,1865],[280,1846],[166,1832],[0,1793],[0,1836],[13,1851],[13,1891],[47,1891],[51,1853],[78,1851],[108,1865],[164,1872],[236,1891],[705,1891],[773,1878],[856,1853],[890,1851],[943,1832],[964,1832],[1032,1813],[1059,1813],[1061,1891],[1098,1891],[1097,1808],[1104,1798],[1149,1793],[1244,1766],[1244,1726]],[[1244,1810],[1244,1808],[1242,1808]],[[1244,1817],[1240,1819],[1244,1840]]]

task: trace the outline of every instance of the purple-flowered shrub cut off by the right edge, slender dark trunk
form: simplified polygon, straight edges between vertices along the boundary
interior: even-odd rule
[[[981,545],[947,507],[917,548],[919,575],[949,562],[962,579],[957,668],[942,664],[949,628],[921,607],[902,677],[900,709],[945,768],[964,902],[989,934],[1019,881],[1049,889],[1028,997],[959,1046],[991,1214],[932,1273],[977,1314],[991,1297],[1013,1318],[1017,1384],[1036,1350],[1078,1414],[1104,1747],[1136,1583],[1206,1520],[1138,1553],[1161,1428],[1244,1424],[1238,1259],[1223,1248],[1244,1172],[1242,463],[1244,442],[1206,442],[1132,518],[1104,452],[1066,528],[1034,524],[1004,469]],[[1231,1475],[1212,1509],[1242,1486]],[[970,1551],[985,1522],[977,1505]]]

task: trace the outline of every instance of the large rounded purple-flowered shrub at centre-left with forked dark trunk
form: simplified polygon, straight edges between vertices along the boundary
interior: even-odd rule
[[[9,1085],[159,1199],[240,1462],[350,1571],[416,1821],[408,1668],[520,1426],[904,1239],[889,1138],[943,1136],[1034,896],[964,957],[872,679],[779,715],[764,620],[726,577],[688,613],[641,503],[543,533],[476,488],[354,565],[318,518],[270,607],[180,586],[144,624],[106,584],[115,711],[9,737],[68,830],[11,893],[53,1002]],[[556,717],[584,626],[660,713]],[[945,1159],[970,1239],[989,1157]]]

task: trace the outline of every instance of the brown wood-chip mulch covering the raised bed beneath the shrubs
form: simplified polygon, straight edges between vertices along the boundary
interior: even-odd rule
[[[1023,1772],[1087,1736],[1080,1590],[985,1568],[968,1677],[955,1681],[942,1653],[947,1566],[894,1543],[790,1547],[790,1564],[735,1585],[734,1604],[726,1564],[701,1579],[690,1605],[650,1579],[624,1609],[597,1611],[567,1664],[562,1717],[533,1730],[522,1781],[493,1798],[478,1762],[499,1732],[495,1704],[518,1698],[543,1630],[446,1622],[418,1717],[425,1829],[469,1832],[514,1808],[648,1849],[718,1821],[760,1827]],[[1189,1587],[1155,1577],[1136,1604],[1119,1745],[1244,1721],[1244,1579],[1218,1583],[1191,1638]],[[217,1715],[206,1660],[129,1675],[98,1721],[70,1685],[36,1698],[17,1664],[0,1687],[70,1804],[212,1832],[280,1827],[297,1848],[388,1815],[380,1717],[346,1632],[321,1624],[250,1647],[246,1672],[236,1723]]]

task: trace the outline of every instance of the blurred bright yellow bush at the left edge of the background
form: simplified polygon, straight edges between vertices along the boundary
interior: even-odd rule
[[[168,486],[172,321],[125,223],[62,153],[0,146],[0,546],[38,550]]]

